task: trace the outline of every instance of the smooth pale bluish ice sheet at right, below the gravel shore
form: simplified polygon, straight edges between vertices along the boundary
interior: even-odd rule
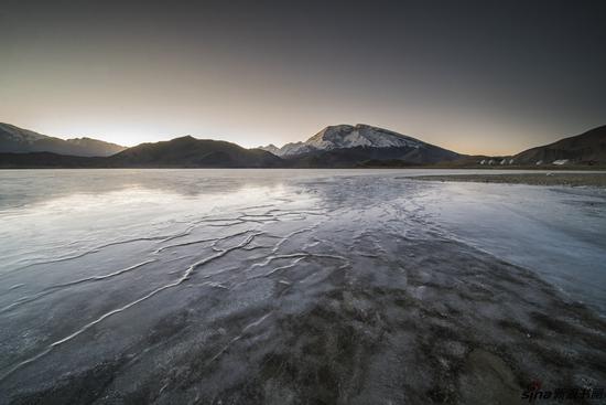
[[[530,268],[606,313],[606,191],[523,184],[441,184],[419,199],[452,237]]]

